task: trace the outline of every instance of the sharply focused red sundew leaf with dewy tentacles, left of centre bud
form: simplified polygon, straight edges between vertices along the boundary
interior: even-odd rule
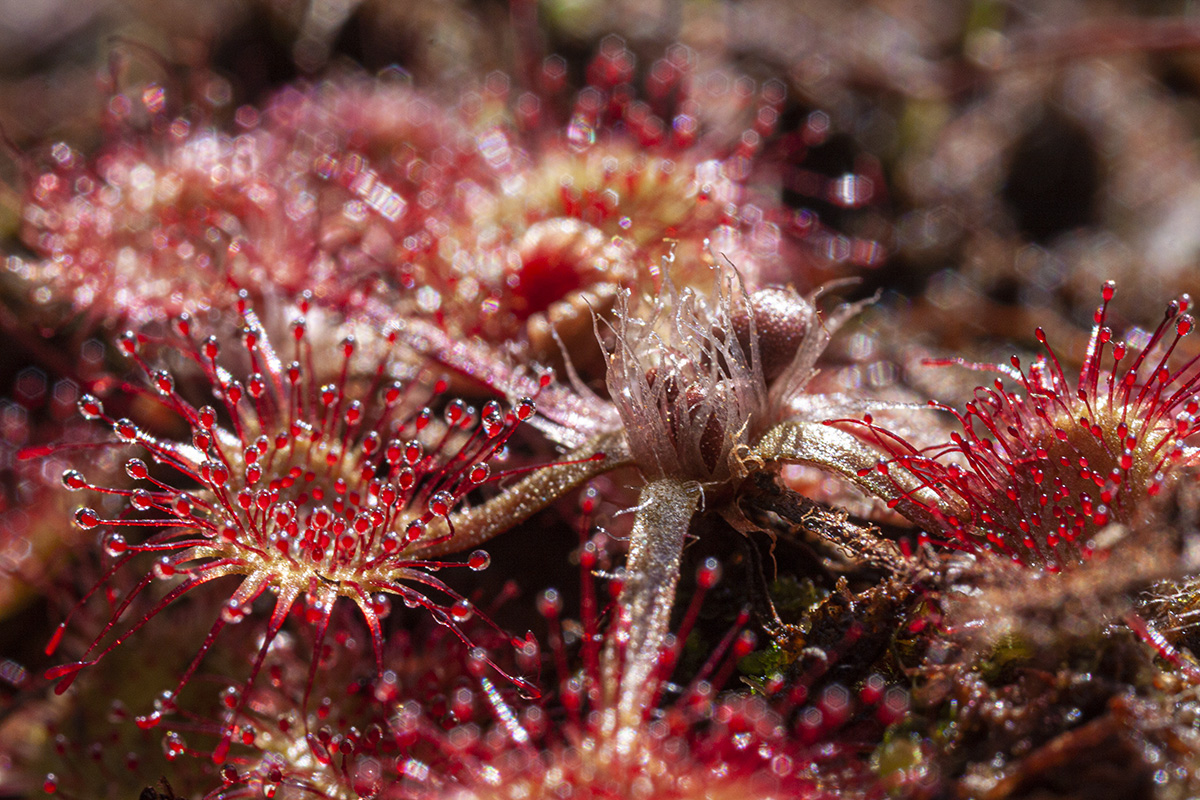
[[[114,559],[80,604],[132,559],[155,561],[121,599],[83,658],[49,670],[49,678],[60,679],[60,692],[82,668],[168,604],[224,577],[239,578],[236,589],[179,686],[139,720],[143,726],[156,724],[173,710],[175,696],[221,628],[241,621],[263,593],[274,594],[275,604],[247,685],[301,596],[302,616],[316,628],[318,644],[335,601],[350,599],[370,630],[380,672],[380,620],[392,597],[427,609],[466,640],[461,624],[475,609],[434,573],[451,566],[482,570],[490,558],[475,551],[463,561],[443,561],[426,551],[455,549],[455,515],[469,517],[468,495],[496,479],[493,464],[534,414],[534,402],[527,398],[505,409],[493,401],[476,411],[450,399],[436,413],[428,403],[443,399],[445,381],[430,387],[394,359],[395,333],[366,343],[342,338],[340,357],[330,360],[310,342],[310,315],[319,318],[319,312],[305,301],[289,325],[290,362],[271,344],[245,299],[238,307],[240,342],[232,348],[217,336],[194,337],[187,317],[176,320],[167,343],[134,333],[121,337],[121,349],[138,363],[161,404],[184,420],[191,437],[181,441],[130,419],[114,419],[92,395],[79,401],[84,417],[102,421],[119,443],[143,451],[125,463],[128,485],[91,483],[77,470],[62,477],[68,489],[107,497],[107,506],[115,509],[109,516],[94,507],[76,513],[80,527],[102,531]],[[151,348],[173,351],[187,366],[178,368],[179,374],[152,366],[143,355]],[[245,377],[235,379],[227,361],[244,365]],[[214,404],[193,404],[191,384],[210,386]],[[127,539],[122,531],[131,529],[137,535]],[[134,599],[155,582],[166,582],[167,593],[132,626],[109,637]],[[56,648],[68,622],[70,618],[59,627],[48,651]],[[509,678],[534,691],[523,679]],[[228,741],[215,757],[220,760],[227,750]]]

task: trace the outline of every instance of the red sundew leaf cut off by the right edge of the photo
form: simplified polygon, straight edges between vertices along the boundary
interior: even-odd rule
[[[1027,369],[1016,356],[1012,368],[968,365],[1019,387],[997,378],[965,411],[944,409],[959,422],[949,443],[917,450],[862,422],[888,453],[870,469],[892,476],[902,498],[889,503],[944,545],[1049,570],[1105,548],[1109,523],[1142,522],[1172,469],[1196,459],[1187,440],[1200,431],[1200,359],[1171,363],[1194,326],[1186,296],[1142,344],[1129,345],[1114,342],[1105,324],[1114,291],[1105,284],[1076,380],[1038,329],[1046,355]]]

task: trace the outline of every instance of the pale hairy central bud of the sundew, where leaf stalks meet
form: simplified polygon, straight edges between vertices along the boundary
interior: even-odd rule
[[[757,451],[778,426],[863,404],[804,392],[829,338],[863,307],[823,317],[820,294],[750,290],[737,272],[716,267],[710,294],[667,277],[647,309],[626,295],[607,383],[643,474],[727,482],[745,474],[740,462],[750,453],[775,458]]]

